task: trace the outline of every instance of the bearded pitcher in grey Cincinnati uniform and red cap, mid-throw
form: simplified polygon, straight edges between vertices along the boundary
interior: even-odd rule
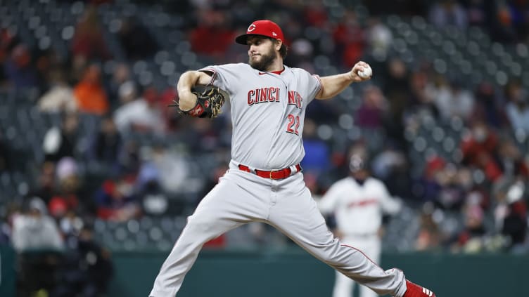
[[[231,101],[231,161],[189,216],[150,296],[175,296],[205,242],[250,222],[276,227],[314,257],[378,294],[435,296],[408,282],[401,270],[383,270],[334,238],[303,181],[301,136],[307,105],[369,79],[358,74],[369,65],[357,62],[349,72],[329,77],[311,75],[283,65],[284,40],[276,23],[257,20],[236,37],[248,47],[247,64],[212,65],[181,75],[177,105],[182,113],[215,117],[224,100]],[[210,88],[197,91],[197,85]]]

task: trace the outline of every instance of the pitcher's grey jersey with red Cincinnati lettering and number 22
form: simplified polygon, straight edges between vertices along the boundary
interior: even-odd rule
[[[300,163],[305,110],[321,88],[317,75],[286,66],[281,74],[261,72],[245,63],[200,71],[211,72],[210,84],[230,95],[231,159],[267,170]]]

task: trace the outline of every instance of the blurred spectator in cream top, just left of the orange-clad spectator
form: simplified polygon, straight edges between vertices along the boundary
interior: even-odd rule
[[[42,112],[76,112],[77,102],[73,89],[68,85],[62,70],[49,72],[49,90],[39,99],[39,110]]]

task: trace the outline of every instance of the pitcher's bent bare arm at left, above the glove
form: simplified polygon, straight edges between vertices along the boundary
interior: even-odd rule
[[[181,110],[191,110],[196,106],[196,95],[191,93],[191,88],[198,84],[207,85],[211,75],[206,72],[190,70],[181,74],[177,84],[179,105]]]

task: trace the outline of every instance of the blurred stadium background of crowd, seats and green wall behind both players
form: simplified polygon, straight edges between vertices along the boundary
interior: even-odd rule
[[[317,196],[368,153],[405,203],[383,267],[438,296],[529,296],[525,0],[0,0],[0,295],[148,294],[229,161],[229,110],[180,117],[176,81],[245,62],[234,36],[262,18],[291,67],[374,69],[309,106],[302,166]],[[255,224],[206,244],[179,296],[330,296],[332,282]]]

